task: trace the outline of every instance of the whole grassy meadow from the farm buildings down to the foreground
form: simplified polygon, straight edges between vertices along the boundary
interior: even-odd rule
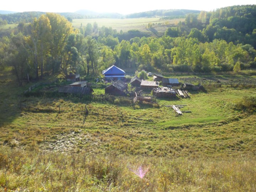
[[[256,190],[256,114],[236,107],[255,87],[207,87],[190,98],[161,98],[158,106],[25,97],[33,83],[18,87],[11,76],[0,73],[2,191]],[[85,105],[99,115],[84,119]],[[180,116],[169,105],[187,112]],[[148,169],[143,178],[131,171],[139,167]]]

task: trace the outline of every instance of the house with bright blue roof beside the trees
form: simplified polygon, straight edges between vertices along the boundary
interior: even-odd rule
[[[102,75],[104,75],[105,80],[107,81],[117,81],[117,80],[125,81],[126,78],[124,74],[125,74],[124,70],[118,68],[115,65],[112,65],[111,67],[102,71]]]

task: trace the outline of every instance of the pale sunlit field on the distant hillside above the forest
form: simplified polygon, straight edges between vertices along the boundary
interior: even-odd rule
[[[142,32],[148,32],[148,23],[154,23],[153,28],[158,32],[165,32],[168,27],[177,25],[180,21],[185,21],[185,18],[172,19],[172,20],[160,20],[161,17],[151,18],[125,18],[125,19],[110,19],[110,18],[92,18],[92,19],[74,19],[72,25],[75,28],[86,26],[87,23],[91,25],[96,22],[98,27],[112,27],[119,33],[120,30],[127,32],[129,30],[139,30]]]

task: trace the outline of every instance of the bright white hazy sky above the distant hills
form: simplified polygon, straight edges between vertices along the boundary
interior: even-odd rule
[[[86,9],[96,12],[130,14],[156,9],[192,9],[210,11],[232,5],[256,4],[255,0],[3,0],[0,10],[75,12]]]

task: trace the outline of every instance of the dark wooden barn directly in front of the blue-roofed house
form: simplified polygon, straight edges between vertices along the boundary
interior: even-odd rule
[[[126,96],[127,84],[121,80],[118,80],[105,88],[105,94]]]

